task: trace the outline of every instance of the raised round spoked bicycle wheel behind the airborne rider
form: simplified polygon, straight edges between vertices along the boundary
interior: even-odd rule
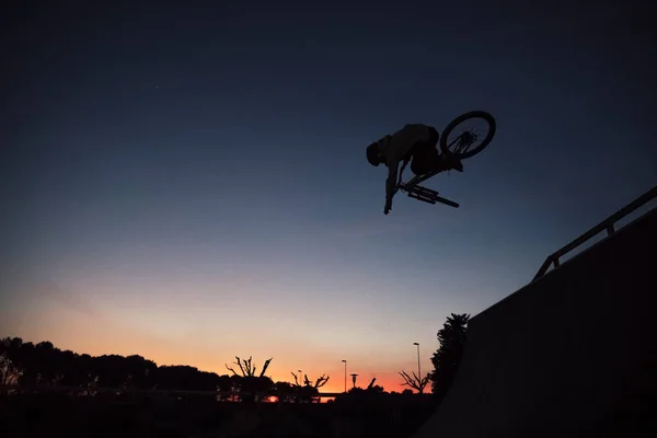
[[[465,160],[476,155],[488,146],[495,136],[496,128],[495,118],[485,111],[461,114],[442,129],[440,150]]]

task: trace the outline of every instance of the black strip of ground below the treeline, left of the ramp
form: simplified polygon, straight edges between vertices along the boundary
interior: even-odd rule
[[[208,397],[20,394],[0,400],[0,436],[401,438],[434,410],[431,400],[418,396],[244,404]]]

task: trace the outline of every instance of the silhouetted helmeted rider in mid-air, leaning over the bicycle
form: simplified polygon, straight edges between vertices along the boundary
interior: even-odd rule
[[[438,152],[438,131],[433,126],[408,124],[392,136],[385,136],[367,147],[367,161],[371,165],[378,166],[383,163],[388,166],[383,214],[388,215],[392,209],[401,162],[405,166],[411,161],[411,171],[415,175],[451,169],[463,172],[463,164],[458,157]]]

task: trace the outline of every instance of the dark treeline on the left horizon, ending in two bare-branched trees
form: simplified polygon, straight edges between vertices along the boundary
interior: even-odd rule
[[[5,337],[0,341],[0,384],[19,385],[21,389],[35,387],[80,388],[93,393],[100,389],[119,390],[175,390],[216,391],[218,397],[229,400],[232,394],[243,393],[255,397],[255,393],[281,392],[291,395],[312,396],[319,393],[319,385],[327,378],[303,384],[274,382],[265,376],[272,359],[263,369],[252,359],[235,358],[230,374],[201,371],[191,366],[158,366],[154,361],[138,355],[90,356],[71,350],[61,350],[50,342],[23,342],[20,337]],[[316,383],[316,385],[315,385]],[[243,399],[239,397],[239,399]]]

